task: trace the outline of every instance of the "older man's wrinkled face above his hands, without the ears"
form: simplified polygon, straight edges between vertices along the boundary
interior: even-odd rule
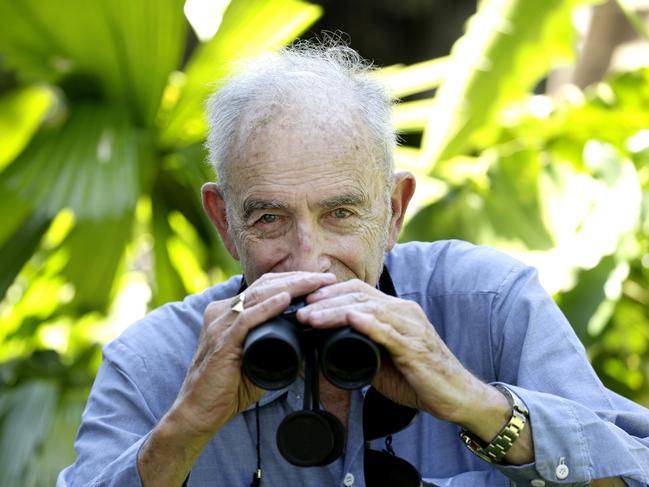
[[[300,270],[376,284],[389,200],[358,122],[302,107],[245,133],[231,161],[228,236],[246,280]]]

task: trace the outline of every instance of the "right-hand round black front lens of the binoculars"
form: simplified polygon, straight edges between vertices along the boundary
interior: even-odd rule
[[[380,365],[377,345],[350,328],[333,333],[322,345],[322,372],[341,389],[358,389],[369,384]]]

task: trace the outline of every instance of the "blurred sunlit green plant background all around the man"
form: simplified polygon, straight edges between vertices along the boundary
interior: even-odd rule
[[[401,102],[403,240],[535,265],[649,406],[646,1],[0,0],[0,485],[53,485],[101,345],[238,272],[204,216],[230,63],[330,31]],[[341,31],[341,32],[338,32]],[[566,370],[566,374],[570,374]]]

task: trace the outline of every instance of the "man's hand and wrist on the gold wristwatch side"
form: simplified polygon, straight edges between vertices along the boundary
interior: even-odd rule
[[[323,287],[298,311],[315,328],[349,325],[383,345],[391,361],[383,363],[373,385],[395,402],[459,424],[491,441],[511,417],[511,406],[494,387],[473,376],[453,355],[421,307],[351,280]],[[533,460],[531,424],[505,459]]]

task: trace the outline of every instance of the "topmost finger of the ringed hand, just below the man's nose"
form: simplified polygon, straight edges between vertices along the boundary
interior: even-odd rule
[[[335,282],[336,276],[329,272],[296,272],[269,280],[260,279],[246,289],[244,307],[253,306],[280,292],[287,292],[291,298],[304,296]]]

